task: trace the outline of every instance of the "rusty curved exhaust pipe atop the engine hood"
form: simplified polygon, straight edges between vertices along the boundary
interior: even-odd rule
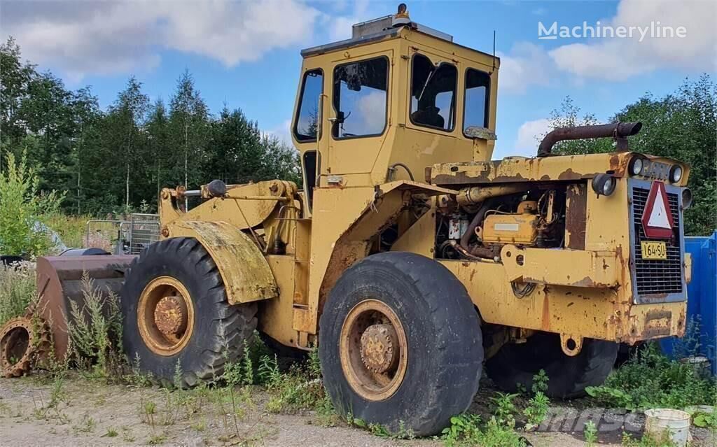
[[[584,140],[587,138],[609,138],[617,141],[619,152],[627,150],[627,137],[636,135],[642,129],[642,122],[614,122],[612,124],[576,126],[574,128],[557,128],[540,143],[538,157],[546,157],[552,153],[555,143],[564,140]]]

